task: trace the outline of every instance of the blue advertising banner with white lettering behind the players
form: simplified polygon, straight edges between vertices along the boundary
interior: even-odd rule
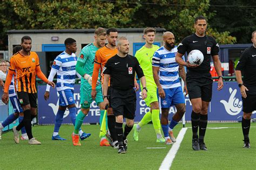
[[[220,91],[217,90],[218,83],[213,82],[212,102],[208,108],[209,121],[240,121],[242,116],[242,100],[240,89],[237,82],[224,82],[224,88]],[[46,86],[38,86],[38,123],[39,124],[54,124],[55,116],[58,111],[58,98],[59,95],[56,89],[51,89],[50,98],[48,101],[44,100]],[[80,111],[80,85],[75,85],[74,98],[76,101],[77,114]],[[186,121],[191,120],[192,105],[189,97],[185,97],[186,104]],[[137,91],[137,109],[135,122],[139,122],[150,108],[146,106],[141,97],[141,91]],[[169,111],[169,119],[176,112],[175,107],[171,107]],[[84,123],[98,123],[99,122],[99,108],[96,103],[91,104],[90,112],[85,117]],[[254,112],[253,112],[253,118]],[[64,114],[63,123],[71,123],[69,117],[69,110],[67,109]]]

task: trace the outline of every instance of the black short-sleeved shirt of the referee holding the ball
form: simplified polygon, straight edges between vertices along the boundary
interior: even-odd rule
[[[192,50],[198,49],[204,54],[204,61],[196,68],[187,68],[194,72],[207,73],[211,69],[211,56],[218,55],[219,45],[211,36],[198,37],[195,33],[183,39],[178,46],[178,53],[190,53]]]

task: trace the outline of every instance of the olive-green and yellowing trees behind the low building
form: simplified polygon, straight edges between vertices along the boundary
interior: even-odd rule
[[[92,29],[96,27],[164,27],[176,35],[177,41],[194,32],[193,19],[208,12],[210,0],[151,1],[29,1],[0,2],[0,39],[7,30]],[[209,24],[208,33],[220,44],[233,44],[229,32],[218,32]],[[8,44],[5,42],[5,44]]]

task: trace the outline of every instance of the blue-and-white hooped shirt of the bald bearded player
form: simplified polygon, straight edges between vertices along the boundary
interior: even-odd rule
[[[159,67],[159,82],[163,89],[181,86],[178,73],[179,64],[175,61],[177,51],[177,47],[168,51],[164,46],[161,46],[156,52],[154,52],[152,66]]]

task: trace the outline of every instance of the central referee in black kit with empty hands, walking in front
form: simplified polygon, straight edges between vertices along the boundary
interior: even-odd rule
[[[103,98],[104,106],[109,104],[107,96],[108,82],[110,78],[111,105],[116,116],[116,133],[118,139],[118,153],[126,153],[127,135],[132,130],[136,110],[136,93],[134,87],[135,72],[142,82],[142,99],[147,97],[146,79],[140,68],[138,60],[129,55],[129,41],[125,37],[117,40],[118,53],[107,60],[103,68]],[[123,132],[123,121],[126,118],[126,125]]]

